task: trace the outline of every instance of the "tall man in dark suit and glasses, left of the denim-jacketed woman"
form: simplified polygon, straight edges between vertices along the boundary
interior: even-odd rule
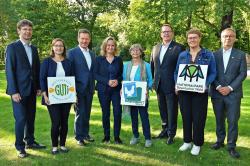
[[[167,137],[172,144],[176,135],[178,99],[175,94],[174,71],[179,54],[184,47],[173,41],[174,32],[170,24],[161,27],[162,43],[154,46],[151,54],[151,70],[154,77],[154,89],[162,121],[162,131],[157,137]]]

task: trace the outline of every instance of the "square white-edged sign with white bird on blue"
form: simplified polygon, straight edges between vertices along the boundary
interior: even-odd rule
[[[130,106],[145,106],[147,82],[123,81],[121,104]]]

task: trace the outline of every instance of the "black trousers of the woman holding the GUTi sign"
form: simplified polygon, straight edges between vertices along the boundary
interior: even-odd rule
[[[71,104],[54,104],[47,106],[51,119],[51,140],[53,147],[58,146],[58,138],[60,138],[60,146],[65,146],[70,107]]]

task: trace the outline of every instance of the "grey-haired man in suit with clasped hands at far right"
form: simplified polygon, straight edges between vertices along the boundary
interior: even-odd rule
[[[225,119],[228,122],[227,146],[229,154],[239,158],[235,150],[238,137],[238,120],[240,118],[242,82],[247,76],[246,54],[233,48],[236,33],[227,28],[221,32],[222,48],[214,53],[217,77],[211,86],[211,99],[216,117],[217,142],[213,149],[224,146],[226,137]]]

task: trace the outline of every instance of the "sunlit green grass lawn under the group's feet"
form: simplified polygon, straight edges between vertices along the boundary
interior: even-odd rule
[[[14,147],[14,117],[10,97],[5,94],[6,80],[4,71],[0,71],[0,165],[248,165],[250,163],[250,79],[244,82],[244,99],[242,100],[241,118],[239,121],[239,138],[237,150],[240,159],[232,159],[226,148],[211,150],[210,146],[216,141],[215,117],[209,101],[208,117],[205,128],[205,144],[199,156],[192,156],[190,152],[178,152],[182,144],[182,121],[178,116],[178,130],[175,143],[167,145],[166,140],[153,140],[151,148],[144,147],[142,128],[140,127],[140,143],[131,146],[131,122],[128,118],[122,121],[121,139],[124,144],[102,144],[103,129],[101,123],[101,109],[96,95],[94,96],[90,133],[95,142],[86,147],[76,145],[73,133],[74,111],[69,117],[69,132],[67,146],[68,154],[53,156],[50,140],[50,118],[46,107],[37,101],[36,140],[47,145],[45,150],[27,150],[31,154],[28,158],[19,159]],[[149,116],[152,135],[160,132],[161,121],[155,93],[150,94]],[[112,122],[113,118],[111,116]],[[112,126],[112,124],[111,124]],[[141,125],[140,125],[141,126]],[[111,132],[112,135],[113,132]],[[248,163],[248,164],[247,164]]]

